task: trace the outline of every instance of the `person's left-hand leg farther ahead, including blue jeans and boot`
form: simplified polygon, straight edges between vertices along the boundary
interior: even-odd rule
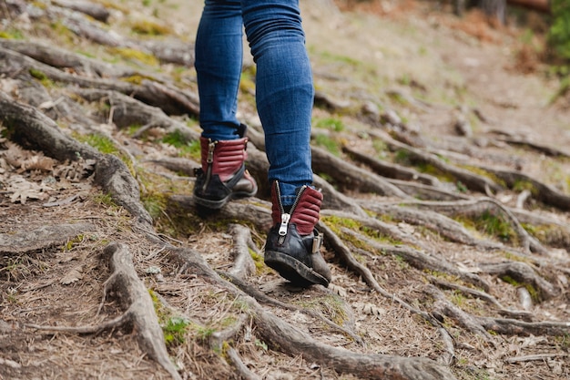
[[[242,27],[239,0],[206,0],[195,46],[202,167],[196,173],[194,200],[207,210],[257,192],[244,164],[245,128],[236,118]]]

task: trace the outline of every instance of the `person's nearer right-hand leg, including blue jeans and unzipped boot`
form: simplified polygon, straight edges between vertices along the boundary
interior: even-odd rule
[[[243,23],[257,64],[256,102],[270,161],[273,227],[265,262],[301,286],[331,282],[322,259],[322,194],[310,187],[314,89],[298,0],[242,0]]]

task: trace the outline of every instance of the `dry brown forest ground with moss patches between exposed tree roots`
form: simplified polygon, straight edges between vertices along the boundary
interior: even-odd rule
[[[4,3],[6,7],[13,4]],[[65,3],[42,4],[47,9],[47,5]],[[189,261],[173,260],[171,250],[148,240],[151,235],[174,247],[198,252],[210,268],[221,273],[220,279],[227,279],[229,273],[239,272],[232,271],[239,251],[236,246],[243,237],[238,231],[243,226],[250,233],[246,238],[249,250],[247,241],[241,241],[241,249],[245,244],[245,251],[252,252],[255,270],[245,276],[253,290],[247,291],[246,285],[240,288],[256,298],[263,310],[300,328],[320,344],[358,354],[428,358],[465,380],[570,378],[570,209],[565,208],[570,196],[570,98],[556,98],[559,80],[549,75],[548,67],[537,58],[541,34],[529,32],[528,25],[544,30],[541,17],[518,12],[518,19],[509,18],[508,26],[492,26],[476,12],[458,18],[447,5],[436,2],[351,3],[301,2],[319,95],[313,115],[314,146],[329,149],[346,161],[360,152],[417,169],[416,173],[429,176],[432,183],[434,178],[440,180],[438,189],[442,193],[458,194],[455,200],[464,200],[464,208],[471,207],[469,201],[492,198],[508,210],[521,211],[516,214],[520,224],[515,223],[515,227],[523,225],[527,231],[532,230],[532,237],[539,242],[531,239],[530,248],[521,247],[524,238],[514,237],[516,231],[504,227],[503,220],[482,231],[480,225],[477,230],[474,221],[466,221],[467,217],[456,220],[465,223],[474,241],[485,241],[486,248],[473,241],[454,241],[427,223],[414,223],[395,213],[397,205],[413,200],[404,202],[396,194],[378,195],[359,185],[341,183],[334,177],[335,168],[319,167],[315,171],[348,195],[354,207],[361,206],[377,215],[384,229],[380,235],[393,231],[392,240],[378,239],[376,242],[382,246],[370,249],[374,242],[366,240],[371,238],[366,234],[369,230],[347,231],[354,226],[346,221],[351,216],[334,213],[338,210],[327,208],[325,199],[323,219],[342,236],[352,254],[358,256],[357,261],[366,263],[375,279],[372,283],[380,284],[386,293],[374,289],[365,280],[366,272],[356,271],[354,265],[341,258],[338,247],[326,243],[322,252],[331,264],[331,287],[295,289],[260,260],[267,213],[261,214],[259,221],[240,220],[239,211],[237,215],[200,219],[191,206],[183,210],[185,203],[176,203],[191,194],[190,159],[198,167],[196,156],[188,153],[191,144],[180,143],[176,133],[161,128],[148,129],[143,139],[137,129],[144,123],[118,127],[115,118],[122,111],[107,105],[104,98],[77,101],[85,120],[69,121],[57,106],[80,96],[61,95],[63,86],[48,87],[45,77],[33,75],[47,88],[43,101],[36,99],[33,106],[57,120],[68,136],[104,153],[130,159],[129,169],[136,173],[141,203],[153,218],[150,227],[143,225],[154,231],[134,223],[132,212],[117,206],[117,201],[95,183],[91,175],[93,161],[49,159],[37,149],[16,146],[10,133],[2,134],[0,379],[176,377],[153,360],[148,347],[141,344],[137,323],[106,325],[125,313],[125,303],[137,301],[128,299],[132,294],[124,296],[116,289],[117,276],[113,273],[117,268],[108,260],[117,248],[109,245],[114,241],[127,247],[137,277],[151,295],[168,358],[180,378],[372,378],[351,365],[332,365],[331,357],[323,356],[326,360],[319,361],[303,354],[302,349],[280,349],[279,342],[264,339],[268,334],[260,327],[260,319],[249,318],[250,314],[244,312],[253,307],[250,301],[229,291],[229,285],[220,285],[219,281],[225,280],[188,270],[192,268]],[[51,15],[40,15],[44,8],[35,6],[30,2],[25,13],[5,18],[0,32],[6,35],[0,37],[17,31],[25,41],[59,46],[117,66],[136,67],[145,73],[141,77],[153,73],[168,78],[161,83],[172,80],[178,87],[196,92],[192,67],[164,63],[144,66],[140,56],[138,60],[124,55],[119,58],[114,47],[96,44],[86,37],[65,33],[57,36],[69,26]],[[148,20],[152,20],[153,25],[164,26],[187,44],[191,52],[201,2],[122,0],[107,6],[111,9],[108,29],[117,35],[139,38],[133,26],[148,26]],[[55,14],[62,19],[68,16],[63,11]],[[253,132],[259,132],[248,56],[245,62],[240,118]],[[74,74],[73,70],[69,72]],[[23,83],[3,71],[0,91],[25,99],[26,91],[37,85]],[[196,118],[169,118],[199,132]],[[7,122],[4,127],[8,130]],[[4,127],[0,123],[0,128]],[[398,148],[391,137],[400,143],[406,138],[406,147],[416,147],[475,173],[474,167],[523,173],[527,176],[524,179],[555,189],[564,205],[538,199],[530,180],[514,180],[514,184],[496,189],[491,185],[485,190],[449,180],[443,166],[421,166],[417,163],[421,161],[419,156],[411,153],[414,150],[404,154],[405,149]],[[108,141],[115,145],[112,149],[107,147]],[[255,156],[255,150],[251,155]],[[173,169],[175,159],[188,160],[176,161],[186,166]],[[354,168],[366,168],[362,162]],[[508,182],[505,178],[495,182]],[[392,183],[405,188],[401,182]],[[259,198],[236,203],[268,211],[267,194],[260,191]],[[440,201],[443,204],[446,200]],[[374,203],[382,210],[368,207]],[[353,219],[365,224],[361,221],[364,217],[359,218]],[[555,227],[533,230],[531,224],[540,224],[536,222],[540,218],[547,221],[545,225]],[[461,275],[426,266],[418,268],[411,256],[406,256],[408,251],[382,254],[389,251],[388,245],[425,252],[426,257],[436,261],[444,258],[459,268]],[[530,271],[539,275],[519,278],[521,272],[491,270],[492,264],[503,262],[528,264],[533,268]],[[453,288],[453,284],[463,287]],[[469,293],[465,288],[480,293]],[[438,298],[442,294],[449,304],[474,317],[450,312],[452,307]],[[417,310],[427,311],[441,321],[439,327],[447,332],[443,335],[453,343],[443,339],[442,330]],[[491,318],[503,312],[528,324],[512,324],[503,330],[499,323],[499,327],[489,327]],[[323,322],[322,315],[329,323]],[[413,376],[402,378],[422,378]]]

